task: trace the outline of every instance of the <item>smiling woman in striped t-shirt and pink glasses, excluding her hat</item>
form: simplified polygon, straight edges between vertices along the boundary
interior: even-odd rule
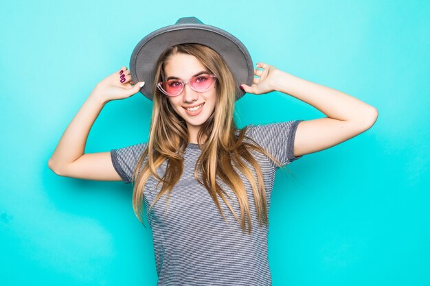
[[[238,73],[225,60],[231,50],[216,51],[188,36],[179,42],[169,43],[151,63],[146,82],[153,82],[152,93],[146,96],[154,104],[147,143],[84,154],[104,104],[142,92],[143,82],[135,84],[122,67],[95,86],[49,167],[60,176],[133,182],[135,213],[142,221],[146,208],[152,228],[158,285],[271,285],[267,214],[275,171],[361,134],[378,112],[258,62],[252,82],[240,85],[242,93],[280,91],[327,117],[239,130],[233,118]]]

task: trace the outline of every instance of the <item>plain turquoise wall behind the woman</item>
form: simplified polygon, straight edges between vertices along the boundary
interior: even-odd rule
[[[273,285],[430,285],[429,1],[4,1],[1,285],[155,285],[131,184],[64,178],[47,161],[100,80],[146,34],[197,16],[258,61],[378,109],[367,132],[278,172]],[[324,117],[282,93],[245,95],[238,125]],[[151,102],[110,102],[86,152],[146,141]],[[246,261],[245,261],[246,263]]]

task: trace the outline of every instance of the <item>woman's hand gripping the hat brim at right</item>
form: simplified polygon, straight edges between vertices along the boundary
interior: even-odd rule
[[[262,68],[258,69],[258,68]],[[280,74],[280,70],[275,67],[265,64],[264,62],[257,63],[257,69],[254,69],[254,75],[259,78],[253,78],[252,85],[240,84],[246,93],[261,95],[275,91],[276,77]]]

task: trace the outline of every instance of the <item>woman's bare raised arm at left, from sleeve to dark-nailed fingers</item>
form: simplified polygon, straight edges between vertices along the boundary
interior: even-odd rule
[[[126,67],[99,82],[61,136],[48,166],[55,174],[87,180],[122,180],[113,168],[110,152],[84,154],[89,130],[104,105],[111,100],[124,99],[143,86],[133,86]]]

